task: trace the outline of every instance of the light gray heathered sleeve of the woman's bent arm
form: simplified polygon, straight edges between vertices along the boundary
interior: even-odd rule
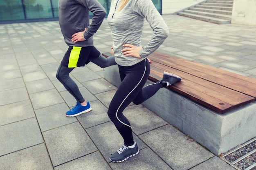
[[[153,30],[150,41],[139,51],[139,55],[145,58],[164,42],[169,35],[169,29],[151,0],[136,0],[134,5],[135,12],[144,16]]]

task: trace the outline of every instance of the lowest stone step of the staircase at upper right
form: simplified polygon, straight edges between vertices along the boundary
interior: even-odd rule
[[[186,12],[180,12],[177,15],[197,19],[197,20],[202,20],[202,21],[207,21],[215,24],[229,24],[231,20],[223,20],[220,18],[213,18],[213,17],[207,17],[207,16],[202,16],[202,15],[195,15],[192,13],[186,13]]]

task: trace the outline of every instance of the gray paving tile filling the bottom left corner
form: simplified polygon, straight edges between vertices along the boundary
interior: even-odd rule
[[[1,170],[53,170],[45,144],[0,157]]]

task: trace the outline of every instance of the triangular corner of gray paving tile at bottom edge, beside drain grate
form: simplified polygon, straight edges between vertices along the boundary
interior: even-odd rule
[[[220,158],[214,156],[211,159],[191,168],[190,170],[235,170],[232,166],[222,161]]]

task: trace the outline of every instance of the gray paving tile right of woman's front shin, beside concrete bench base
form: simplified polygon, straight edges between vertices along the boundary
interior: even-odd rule
[[[168,124],[164,119],[141,104],[128,106],[124,110],[124,115],[130,121],[132,131],[136,135],[140,135]]]

